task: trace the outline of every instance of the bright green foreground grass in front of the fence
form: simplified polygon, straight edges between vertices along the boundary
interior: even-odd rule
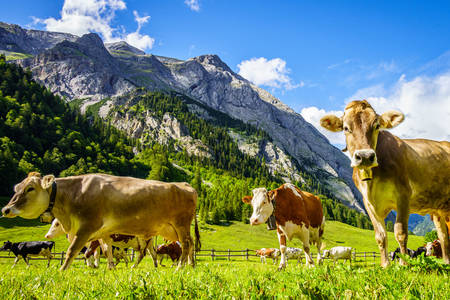
[[[448,299],[448,274],[412,272],[376,265],[325,264],[309,269],[289,264],[279,272],[259,262],[199,261],[196,268],[158,268],[146,258],[136,269],[119,264],[108,271],[88,269],[76,261],[66,272],[59,264],[0,260],[1,299]]]

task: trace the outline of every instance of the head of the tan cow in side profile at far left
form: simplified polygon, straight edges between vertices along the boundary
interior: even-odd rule
[[[2,214],[7,218],[20,216],[25,219],[39,217],[50,202],[50,187],[55,177],[47,175],[42,177],[37,172],[31,172],[21,183],[14,186],[14,196],[3,207]]]

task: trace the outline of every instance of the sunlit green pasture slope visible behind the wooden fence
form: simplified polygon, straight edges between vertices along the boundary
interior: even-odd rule
[[[50,225],[40,225],[32,227],[15,226],[12,228],[2,227],[0,223],[0,241],[39,241],[45,240]],[[228,226],[200,224],[200,235],[202,249],[216,250],[243,250],[259,249],[264,247],[278,248],[278,238],[275,231],[268,231],[265,225],[250,226],[242,222],[231,222]],[[57,251],[66,251],[69,246],[64,236],[54,239]],[[162,239],[158,239],[162,243]],[[378,246],[375,242],[372,230],[360,229],[336,221],[327,221],[325,225],[324,243],[327,249],[334,246],[351,246],[358,252],[374,251],[378,253]],[[408,247],[417,249],[423,246],[422,236],[409,236]],[[394,234],[388,232],[389,250],[393,251],[398,247]],[[301,242],[294,239],[288,242],[290,247],[301,247]],[[317,253],[315,246],[311,251]]]

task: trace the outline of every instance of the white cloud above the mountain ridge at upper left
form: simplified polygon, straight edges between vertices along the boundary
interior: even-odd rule
[[[125,9],[126,4],[122,0],[65,0],[60,19],[34,18],[34,22],[44,24],[48,31],[67,32],[78,36],[96,32],[107,43],[125,40],[137,48],[151,49],[154,39],[140,34],[142,25],[148,22],[150,16],[139,17],[136,11],[133,12],[138,28],[132,33],[119,32],[111,26],[115,13]]]

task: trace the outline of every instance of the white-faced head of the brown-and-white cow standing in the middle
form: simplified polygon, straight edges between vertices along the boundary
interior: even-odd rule
[[[245,196],[242,201],[253,207],[250,224],[259,225],[266,222],[273,213],[272,191],[268,192],[266,188],[256,188],[252,193],[253,196]]]

